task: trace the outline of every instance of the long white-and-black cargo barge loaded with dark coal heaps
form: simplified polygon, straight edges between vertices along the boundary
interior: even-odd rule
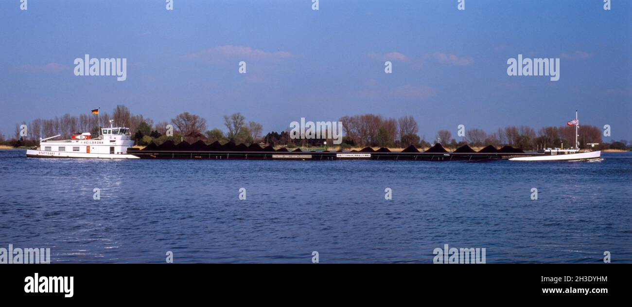
[[[94,111],[98,110],[93,110]],[[574,120],[578,125],[577,116]],[[521,149],[504,146],[496,149],[487,146],[474,151],[464,145],[455,151],[447,151],[437,143],[426,151],[419,151],[415,146],[408,146],[403,151],[391,151],[386,147],[374,150],[365,147],[360,151],[301,151],[286,148],[274,149],[272,146],[262,148],[258,144],[226,144],[213,142],[206,144],[200,140],[189,144],[186,141],[177,145],[166,141],[160,145],[152,142],[143,149],[132,147],[130,129],[114,127],[110,120],[110,128],[100,129],[101,135],[92,139],[90,133],[73,134],[70,140],[53,141],[59,135],[40,139],[40,146],[27,150],[30,158],[106,158],[106,159],[188,159],[188,160],[409,160],[409,161],[590,161],[599,160],[600,151],[580,153],[579,143],[575,139],[574,149],[546,149],[537,153],[525,153]],[[571,122],[569,122],[571,123]],[[594,146],[594,144],[593,144]]]

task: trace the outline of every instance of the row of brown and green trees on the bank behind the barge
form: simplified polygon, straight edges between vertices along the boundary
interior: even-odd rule
[[[81,114],[73,116],[68,113],[55,118],[35,118],[28,124],[16,124],[15,136],[6,139],[0,133],[0,143],[12,146],[36,146],[40,138],[61,135],[62,139],[70,139],[72,134],[91,132],[99,135],[100,127],[108,127],[109,120],[113,120],[117,127],[128,127],[138,145],[143,146],[155,142],[162,144],[167,140],[174,142],[195,142],[200,139],[208,144],[219,141],[226,143],[263,143],[271,146],[322,146],[327,139],[292,139],[289,128],[279,132],[269,132],[262,135],[263,126],[260,123],[246,122],[241,113],[224,115],[226,130],[212,128],[207,130],[206,120],[199,115],[189,112],[180,113],[169,122],[157,122],[143,115],[135,115],[124,105],[118,105],[112,113],[100,111],[99,116]],[[425,135],[419,135],[419,125],[413,116],[390,118],[375,114],[343,116],[339,122],[343,126],[343,144],[348,147],[408,147],[419,148],[432,146],[425,140]],[[27,125],[28,133],[22,137],[21,125]],[[454,136],[453,137],[453,132]],[[574,145],[575,128],[573,126],[542,127],[535,130],[525,125],[498,128],[495,132],[487,133],[480,128],[464,128],[464,134],[459,136],[458,129],[439,130],[432,139],[432,143],[441,143],[444,147],[456,149],[468,144],[471,147],[513,146],[524,150],[535,150],[545,147],[572,147]],[[589,143],[599,143],[599,148],[613,147],[624,149],[629,146],[628,141],[622,140],[603,144],[602,130],[592,125],[581,125],[578,138],[580,147],[588,147]]]

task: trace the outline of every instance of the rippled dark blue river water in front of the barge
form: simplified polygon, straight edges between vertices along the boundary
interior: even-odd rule
[[[604,158],[147,161],[0,151],[0,247],[51,247],[52,263],[161,263],[166,251],[176,262],[310,263],[319,251],[322,263],[432,263],[443,244],[485,247],[487,263],[597,263],[604,251],[632,262],[632,155]]]

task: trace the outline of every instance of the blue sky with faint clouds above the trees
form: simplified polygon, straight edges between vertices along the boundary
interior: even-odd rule
[[[457,126],[581,123],[632,139],[632,1],[0,1],[0,131],[125,104],[155,122],[182,111],[222,128],[241,112],[283,130],[301,117],[412,115]],[[73,61],[127,58],[127,80]],[[510,77],[507,59],[560,58],[560,79]],[[384,73],[384,61],[393,73]],[[246,61],[246,74],[238,73]],[[225,130],[225,129],[224,129]]]

